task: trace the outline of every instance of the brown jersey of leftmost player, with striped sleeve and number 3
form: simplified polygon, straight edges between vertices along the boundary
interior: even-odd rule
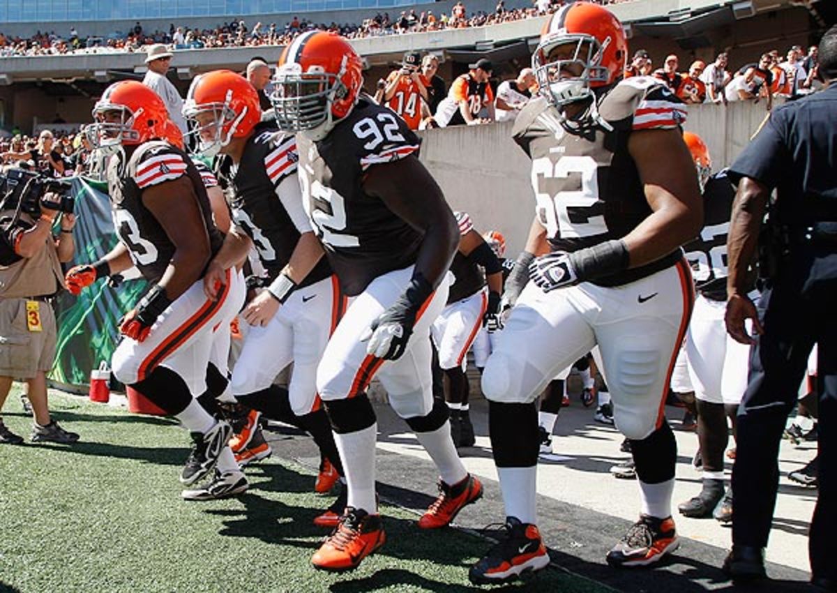
[[[108,193],[116,234],[149,282],[160,280],[176,248],[157,217],[142,204],[142,192],[157,183],[184,175],[192,181],[209,236],[209,247],[215,255],[221,248],[223,235],[213,223],[201,173],[185,152],[167,142],[151,141],[137,147],[127,162],[124,152],[118,152],[108,162]],[[172,195],[171,198],[181,199],[182,196]]]

